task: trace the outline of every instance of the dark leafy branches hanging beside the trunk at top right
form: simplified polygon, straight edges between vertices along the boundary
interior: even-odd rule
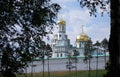
[[[98,12],[97,9],[101,9],[101,15],[103,15],[104,12],[106,12],[107,9],[107,5],[110,4],[110,0],[78,0],[80,2],[80,6],[86,7],[89,9],[89,14],[90,16],[95,16],[96,17],[96,13]],[[108,12],[109,13],[109,12]]]

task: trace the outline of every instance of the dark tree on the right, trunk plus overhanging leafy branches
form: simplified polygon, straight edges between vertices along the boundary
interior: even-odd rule
[[[111,29],[109,38],[110,64],[105,77],[119,76],[120,69],[120,0],[79,0],[82,7],[87,7],[91,15],[97,13],[97,6],[105,10],[110,3]],[[95,15],[96,16],[96,15]]]

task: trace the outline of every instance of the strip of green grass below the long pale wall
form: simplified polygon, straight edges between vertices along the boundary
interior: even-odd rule
[[[105,70],[98,70],[98,77],[103,77],[106,73]],[[26,74],[27,77],[43,77],[43,73],[34,73],[33,76],[31,73]],[[26,77],[25,75],[17,75],[17,77]],[[49,77],[48,73],[44,73],[44,77]],[[50,77],[76,77],[76,71],[71,71],[71,74],[68,71],[54,71],[50,72]],[[77,71],[77,77],[89,77],[88,71]],[[96,71],[90,71],[90,77],[96,77]]]

